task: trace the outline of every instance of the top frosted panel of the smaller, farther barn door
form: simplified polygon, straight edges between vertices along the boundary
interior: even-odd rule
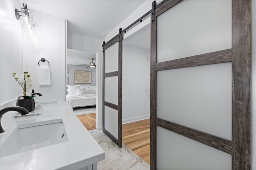
[[[105,73],[118,71],[118,42],[105,50]]]

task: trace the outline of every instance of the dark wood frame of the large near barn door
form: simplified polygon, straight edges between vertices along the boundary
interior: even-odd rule
[[[152,3],[151,15],[151,100],[150,100],[150,169],[156,169],[156,127],[162,127],[232,154],[232,170],[250,169],[250,65],[251,65],[251,0],[232,0],[232,49],[156,63],[157,16],[182,0]],[[156,72],[232,62],[232,141],[156,117]],[[196,136],[196,137],[195,137]]]

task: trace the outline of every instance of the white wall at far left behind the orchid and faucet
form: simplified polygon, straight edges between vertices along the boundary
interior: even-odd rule
[[[2,0],[0,5],[0,105],[17,99],[22,88],[12,72],[22,72],[22,25],[16,20],[14,9],[21,9],[19,0]]]

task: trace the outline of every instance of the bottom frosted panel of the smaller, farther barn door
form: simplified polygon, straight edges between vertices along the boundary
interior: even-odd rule
[[[105,129],[118,139],[118,110],[105,106]],[[106,123],[108,122],[108,123]]]

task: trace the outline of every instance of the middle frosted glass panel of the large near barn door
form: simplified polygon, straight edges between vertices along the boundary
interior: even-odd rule
[[[158,71],[156,116],[231,140],[231,63]]]

